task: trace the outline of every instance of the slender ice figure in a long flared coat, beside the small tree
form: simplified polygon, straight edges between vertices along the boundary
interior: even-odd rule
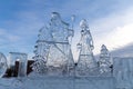
[[[92,50],[93,40],[86,20],[80,22],[81,40],[78,43],[80,56],[78,60],[76,71],[81,76],[94,75],[96,61],[94,60]]]

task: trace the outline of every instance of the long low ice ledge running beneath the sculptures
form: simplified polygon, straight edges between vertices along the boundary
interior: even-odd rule
[[[104,85],[103,85],[104,83]],[[101,86],[102,85],[102,86]],[[115,89],[112,77],[28,77],[27,79],[1,79],[0,89]]]

